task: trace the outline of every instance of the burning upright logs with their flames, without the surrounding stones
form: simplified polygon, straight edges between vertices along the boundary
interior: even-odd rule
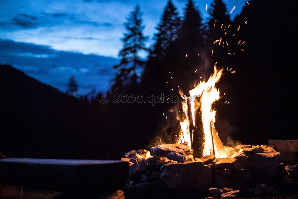
[[[180,89],[179,93],[184,99],[182,101],[183,114],[180,120],[180,128],[175,132],[172,142],[186,144],[193,149],[195,158],[204,155],[215,155],[216,158],[226,158],[226,150],[218,137],[215,129],[215,109],[212,104],[219,100],[220,91],[215,84],[220,80],[222,71],[214,66],[214,73],[208,81],[200,81],[189,91],[189,96],[184,95]],[[226,147],[228,149],[228,147]]]

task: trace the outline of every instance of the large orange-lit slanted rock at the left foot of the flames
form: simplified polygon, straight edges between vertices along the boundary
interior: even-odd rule
[[[149,149],[154,157],[163,156],[177,162],[186,162],[193,149],[184,144],[161,144]]]

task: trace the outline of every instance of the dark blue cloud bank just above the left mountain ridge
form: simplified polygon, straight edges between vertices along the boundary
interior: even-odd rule
[[[114,78],[116,58],[53,50],[48,46],[0,39],[0,63],[11,64],[27,75],[64,92],[75,75],[79,92],[105,92]],[[58,81],[57,81],[58,80]]]

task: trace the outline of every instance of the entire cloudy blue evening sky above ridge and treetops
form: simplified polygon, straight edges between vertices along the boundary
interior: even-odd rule
[[[114,76],[111,66],[117,63],[115,58],[122,48],[120,38],[125,32],[123,23],[128,14],[136,4],[140,5],[144,13],[144,35],[149,36],[146,45],[149,47],[153,43],[155,27],[166,2],[1,0],[0,63],[12,64],[27,75],[61,91],[65,90],[71,75],[77,77],[79,92],[82,94],[91,89],[106,91]],[[187,1],[173,2],[182,16]],[[209,7],[211,2],[196,1],[205,19],[208,17],[206,4]],[[243,0],[224,2],[229,11],[236,6],[231,18],[240,13],[245,4]],[[5,52],[3,49],[6,49]],[[94,73],[92,78],[92,75],[86,75],[89,73]]]

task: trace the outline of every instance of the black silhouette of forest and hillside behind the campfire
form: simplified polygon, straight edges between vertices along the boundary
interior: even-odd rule
[[[228,136],[254,145],[296,139],[295,5],[294,0],[250,0],[232,21],[224,2],[214,0],[204,23],[195,1],[187,1],[181,17],[170,0],[150,49],[136,6],[125,24],[113,86],[91,101],[1,65],[0,151],[7,157],[119,159],[130,150],[167,143],[180,104],[113,103],[112,97],[187,92],[209,78],[215,63],[224,68],[218,88],[225,95],[214,106],[224,144]],[[139,50],[149,50],[146,60]],[[102,96],[110,101],[100,103]]]

